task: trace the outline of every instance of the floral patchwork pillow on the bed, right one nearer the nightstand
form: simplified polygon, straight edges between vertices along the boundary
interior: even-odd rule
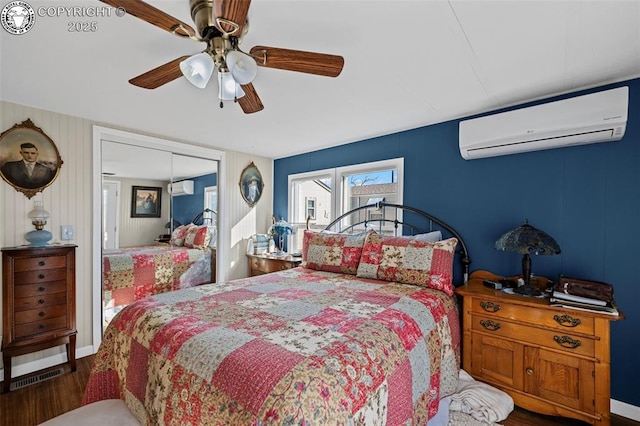
[[[367,235],[358,265],[360,278],[417,284],[453,295],[456,238],[420,241],[413,237]]]

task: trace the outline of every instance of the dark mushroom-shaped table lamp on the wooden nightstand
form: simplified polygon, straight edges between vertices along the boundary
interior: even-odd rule
[[[496,250],[510,251],[523,254],[522,279],[524,286],[514,289],[516,293],[529,296],[539,295],[540,292],[531,287],[531,257],[530,254],[560,254],[560,246],[549,234],[541,231],[525,220],[521,225],[503,234],[495,244]]]

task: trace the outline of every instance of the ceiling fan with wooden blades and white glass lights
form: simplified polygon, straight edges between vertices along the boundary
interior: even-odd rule
[[[247,14],[251,0],[189,0],[191,18],[197,28],[140,0],[100,0],[178,37],[207,43],[201,53],[181,56],[129,80],[145,89],[155,89],[184,76],[204,88],[217,70],[220,107],[225,100],[237,101],[242,110],[264,109],[251,83],[257,67],[278,68],[327,77],[337,77],[344,58],[324,53],[254,46],[249,53],[239,45],[249,29]]]

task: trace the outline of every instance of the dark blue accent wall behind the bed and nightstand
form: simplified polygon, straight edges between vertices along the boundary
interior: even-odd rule
[[[640,406],[640,79],[544,102],[624,85],[629,122],[621,141],[467,161],[458,148],[459,120],[449,121],[275,160],[273,213],[287,217],[290,174],[404,157],[404,204],[453,226],[467,243],[472,271],[521,273],[521,256],[493,244],[528,219],[562,249],[533,256],[534,274],[614,285],[626,319],[611,323],[611,395]]]

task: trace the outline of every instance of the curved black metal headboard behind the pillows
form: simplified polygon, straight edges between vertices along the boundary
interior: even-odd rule
[[[388,214],[390,210],[393,212],[392,214]],[[370,212],[374,212],[374,214],[370,214]],[[410,212],[414,215],[417,215],[418,217],[422,218],[420,220],[422,220],[423,222],[426,219],[428,226],[416,226],[412,223],[406,222],[404,212]],[[412,215],[407,216],[411,217]],[[340,225],[342,223],[344,224]],[[434,225],[436,226],[434,227]],[[395,236],[415,235],[425,232],[431,232],[434,230],[448,232],[451,236],[458,239],[456,254],[458,254],[460,258],[464,282],[467,282],[469,278],[469,265],[471,264],[471,259],[469,258],[469,252],[467,251],[467,245],[465,244],[460,234],[458,234],[455,229],[453,229],[442,220],[414,207],[400,204],[388,204],[383,201],[375,204],[356,207],[355,209],[344,213],[329,225],[325,226],[324,230],[350,232],[359,229],[363,230],[368,227],[371,228],[372,226],[373,229],[377,228],[377,230],[393,230]]]

